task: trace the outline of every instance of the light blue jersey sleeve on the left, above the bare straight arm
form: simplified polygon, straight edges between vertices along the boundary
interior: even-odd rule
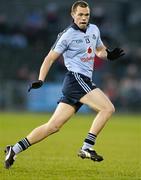
[[[67,43],[66,33],[60,33],[57,37],[56,42],[52,46],[52,50],[59,53],[59,54],[62,54],[67,49],[67,47],[68,47],[67,44],[68,43]]]

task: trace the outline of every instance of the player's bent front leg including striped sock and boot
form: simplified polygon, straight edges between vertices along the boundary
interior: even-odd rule
[[[96,110],[98,114],[91,125],[89,133],[84,140],[84,144],[78,155],[82,158],[91,158],[95,161],[101,161],[103,160],[103,157],[97,155],[91,148],[95,144],[97,135],[115,111],[114,106],[109,98],[98,88],[82,97],[80,102],[87,104],[89,107]],[[85,150],[87,150],[87,152],[85,152]]]

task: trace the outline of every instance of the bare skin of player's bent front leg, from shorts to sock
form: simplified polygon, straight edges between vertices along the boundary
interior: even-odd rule
[[[103,129],[107,120],[115,112],[115,108],[109,98],[99,89],[96,88],[80,99],[80,102],[87,104],[98,112],[90,129],[90,133],[98,135]]]

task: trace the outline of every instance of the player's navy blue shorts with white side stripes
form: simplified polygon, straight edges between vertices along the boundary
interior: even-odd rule
[[[65,75],[62,87],[63,96],[59,102],[64,102],[75,107],[76,111],[82,106],[81,97],[95,89],[96,85],[83,74],[68,71]]]

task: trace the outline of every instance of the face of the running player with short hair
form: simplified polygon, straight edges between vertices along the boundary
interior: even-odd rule
[[[86,29],[87,24],[90,18],[90,9],[88,7],[82,8],[80,6],[77,7],[75,12],[72,12],[72,18],[74,19],[74,23],[80,29]]]

